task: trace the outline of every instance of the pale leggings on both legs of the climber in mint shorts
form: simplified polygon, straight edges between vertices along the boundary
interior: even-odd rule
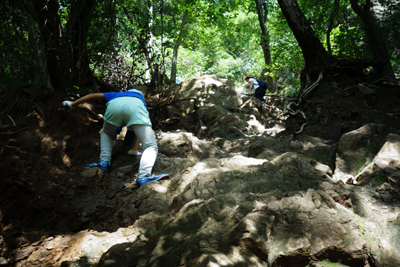
[[[117,131],[117,126],[104,122],[100,139],[100,159],[108,160],[111,163],[113,148],[113,138]],[[134,131],[143,146],[143,153],[140,159],[138,177],[151,175],[154,163],[156,162],[158,147],[153,129],[149,125],[132,124],[128,129]]]

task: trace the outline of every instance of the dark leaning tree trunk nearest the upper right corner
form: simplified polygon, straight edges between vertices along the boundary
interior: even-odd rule
[[[361,18],[364,23],[365,33],[369,46],[371,47],[372,53],[375,59],[382,62],[382,67],[378,70],[382,75],[388,76],[394,80],[394,72],[392,65],[390,64],[389,52],[386,44],[379,34],[376,27],[375,18],[370,11],[371,1],[367,0],[366,4],[363,4],[359,0],[350,0],[351,8]]]

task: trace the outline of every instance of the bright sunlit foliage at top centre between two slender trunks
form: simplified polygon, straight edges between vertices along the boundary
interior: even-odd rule
[[[242,83],[245,75],[258,73],[263,55],[257,44],[257,23],[255,13],[243,10],[227,11],[207,28],[190,23],[189,36],[178,54],[178,76],[186,80],[213,74]]]

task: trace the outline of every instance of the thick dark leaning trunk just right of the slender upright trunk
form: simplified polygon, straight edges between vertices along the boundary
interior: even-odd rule
[[[319,74],[328,69],[331,58],[296,0],[278,0],[282,13],[303,52],[305,68],[301,75],[301,90],[317,80]]]

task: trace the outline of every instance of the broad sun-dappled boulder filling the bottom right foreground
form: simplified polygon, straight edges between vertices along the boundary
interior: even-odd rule
[[[162,186],[165,219],[139,216],[133,229],[143,237],[114,245],[98,266],[306,266],[338,255],[347,266],[400,263],[399,229],[385,223],[391,212],[362,210],[373,197],[334,183],[297,153],[271,162],[207,159],[139,190],[153,201],[149,193],[159,195]],[[160,200],[154,196],[154,205]]]

